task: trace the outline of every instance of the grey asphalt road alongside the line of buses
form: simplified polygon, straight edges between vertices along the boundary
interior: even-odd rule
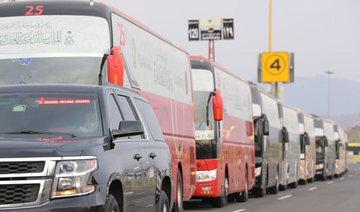
[[[185,203],[187,212],[355,212],[360,211],[360,165],[350,165],[340,179],[316,181],[299,185],[276,195],[252,197],[246,203],[229,203],[224,208],[212,208],[201,201]]]

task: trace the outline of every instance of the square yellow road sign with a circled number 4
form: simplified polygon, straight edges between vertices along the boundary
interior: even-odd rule
[[[263,83],[290,82],[289,53],[265,52],[261,54]]]

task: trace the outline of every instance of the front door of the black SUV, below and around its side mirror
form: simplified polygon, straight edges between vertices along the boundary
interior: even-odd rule
[[[120,121],[125,120],[113,93],[107,94],[108,106],[107,116],[109,117],[110,131],[119,128]],[[143,152],[143,141],[141,139],[133,140],[128,137],[117,138],[114,141],[114,149],[112,154],[116,154],[114,158],[121,155],[121,161],[113,161],[114,166],[121,166],[124,175],[124,199],[126,211],[137,211],[141,209],[141,196],[143,188],[143,169],[142,163],[145,154]]]

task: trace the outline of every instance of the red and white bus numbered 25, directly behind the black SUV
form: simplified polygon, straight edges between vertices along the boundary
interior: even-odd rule
[[[102,3],[29,1],[0,5],[0,52],[0,85],[112,83],[145,96],[172,154],[174,208],[183,210],[196,188],[185,50]]]

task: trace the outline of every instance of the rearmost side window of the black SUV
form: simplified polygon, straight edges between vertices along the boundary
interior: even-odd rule
[[[146,121],[146,128],[151,133],[155,141],[164,141],[164,136],[162,130],[159,126],[158,119],[155,116],[154,111],[151,106],[137,98],[134,98],[136,106],[139,108],[141,116],[144,117]],[[151,127],[150,127],[151,126]]]

